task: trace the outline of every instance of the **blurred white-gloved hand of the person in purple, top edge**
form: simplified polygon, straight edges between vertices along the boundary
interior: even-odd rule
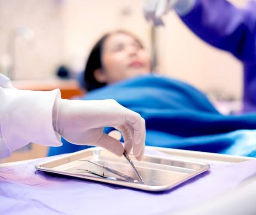
[[[161,17],[169,10],[175,9],[179,15],[185,15],[193,8],[195,0],[145,0],[144,15],[154,25],[163,25]]]

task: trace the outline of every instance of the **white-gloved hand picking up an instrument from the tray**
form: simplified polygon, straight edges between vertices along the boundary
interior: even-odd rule
[[[118,156],[133,148],[137,160],[141,160],[145,148],[145,120],[117,101],[76,101],[56,99],[53,107],[53,128],[67,141],[77,145],[104,147]],[[104,127],[114,127],[122,132],[124,147],[120,141],[103,133]]]

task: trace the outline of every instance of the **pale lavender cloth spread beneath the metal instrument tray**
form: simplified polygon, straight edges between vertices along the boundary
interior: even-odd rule
[[[178,211],[234,189],[256,175],[256,161],[211,165],[178,187],[149,193],[37,171],[42,160],[0,169],[0,214],[153,215]]]

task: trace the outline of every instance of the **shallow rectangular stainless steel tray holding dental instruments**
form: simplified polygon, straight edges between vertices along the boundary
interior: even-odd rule
[[[105,170],[103,171],[102,168],[94,166],[88,162],[80,161],[91,160],[136,178],[132,167],[124,157],[117,157],[100,147],[89,148],[39,163],[36,165],[36,169],[45,172],[53,172],[147,191],[162,191],[171,189],[182,182],[207,171],[207,169],[210,169],[210,166],[203,162],[191,162],[188,160],[173,159],[148,154],[145,154],[143,160],[140,162],[137,161],[133,155],[130,155],[130,158],[133,160],[133,163],[145,181],[144,184],[126,182],[122,180],[114,181],[77,170],[90,169],[98,172],[99,174],[104,172],[105,175],[113,176]]]

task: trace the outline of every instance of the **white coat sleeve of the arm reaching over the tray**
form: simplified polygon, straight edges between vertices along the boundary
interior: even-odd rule
[[[30,142],[61,146],[60,135],[52,126],[52,108],[59,89],[30,91],[15,89],[0,74],[0,158]]]

